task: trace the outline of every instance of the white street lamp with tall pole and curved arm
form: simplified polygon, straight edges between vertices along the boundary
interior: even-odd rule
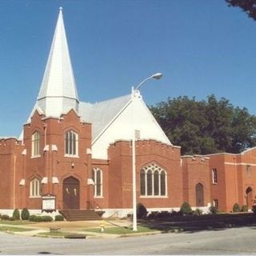
[[[161,73],[152,74],[149,78],[144,79],[138,84],[138,86],[132,89],[132,92],[138,90],[144,82],[150,79],[160,79],[162,78]],[[132,171],[133,171],[133,230],[137,231],[137,201],[136,201],[136,151],[135,151],[135,138],[136,132],[133,130],[133,140],[132,140]]]

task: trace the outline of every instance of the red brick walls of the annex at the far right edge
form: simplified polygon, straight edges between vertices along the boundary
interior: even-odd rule
[[[250,166],[250,177],[246,166]],[[211,169],[218,170],[218,184],[211,184],[211,199],[218,199],[219,209],[232,211],[234,203],[246,205],[246,189],[250,186],[255,195],[256,150],[247,150],[242,154],[210,155]]]

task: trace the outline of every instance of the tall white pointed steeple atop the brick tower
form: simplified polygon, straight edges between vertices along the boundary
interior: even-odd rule
[[[59,117],[70,109],[78,112],[78,104],[78,93],[66,41],[62,7],[60,7],[37,106],[42,109],[46,117]]]

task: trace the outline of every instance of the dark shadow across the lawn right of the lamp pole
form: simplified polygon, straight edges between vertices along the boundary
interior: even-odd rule
[[[169,218],[144,218],[138,224],[164,233],[187,232],[194,233],[202,230],[226,230],[242,226],[256,229],[255,214],[216,214],[200,216],[182,216]]]

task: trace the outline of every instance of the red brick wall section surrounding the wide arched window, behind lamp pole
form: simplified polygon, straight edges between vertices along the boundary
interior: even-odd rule
[[[110,208],[132,207],[132,147],[130,142],[110,145],[109,202]],[[140,194],[140,170],[154,162],[167,173],[166,197],[142,197]],[[155,141],[136,142],[137,202],[146,208],[175,207],[182,204],[182,171],[180,149]]]

